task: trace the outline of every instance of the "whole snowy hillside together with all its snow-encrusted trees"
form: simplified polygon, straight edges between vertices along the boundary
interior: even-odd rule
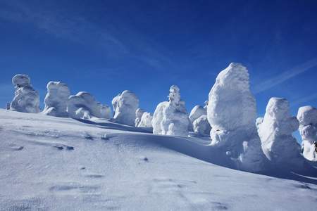
[[[15,98],[0,109],[1,210],[317,207],[316,108],[294,117],[285,98],[271,98],[255,122],[240,63],[220,72],[206,106],[189,115],[175,85],[154,115],[123,91],[111,118],[110,106],[85,91],[70,96],[63,82],[47,84],[43,111],[30,77],[13,84]]]

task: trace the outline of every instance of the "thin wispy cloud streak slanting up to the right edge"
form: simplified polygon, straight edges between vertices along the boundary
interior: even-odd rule
[[[306,72],[307,70],[309,70],[315,66],[317,66],[317,58],[309,60],[306,63],[302,63],[302,65],[298,65],[297,67],[292,68],[291,70],[287,70],[285,72],[282,72],[282,74],[277,75],[276,77],[273,77],[271,79],[267,79],[264,82],[257,84],[256,87],[254,87],[253,92],[254,92],[254,94],[258,94],[261,91],[265,91],[266,89],[270,89],[271,87],[275,87],[278,84],[281,84],[282,82],[287,81],[287,79],[290,79],[296,75],[299,75],[302,72]]]

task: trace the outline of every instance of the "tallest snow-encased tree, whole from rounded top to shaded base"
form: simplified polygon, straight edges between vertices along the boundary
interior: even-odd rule
[[[231,63],[219,73],[209,93],[207,117],[211,124],[211,145],[227,155],[237,168],[265,172],[256,119],[256,100],[249,90],[249,73],[240,63]]]

